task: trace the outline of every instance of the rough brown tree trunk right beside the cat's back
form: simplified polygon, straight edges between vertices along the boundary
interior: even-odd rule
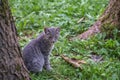
[[[30,80],[8,0],[0,0],[0,80]]]

